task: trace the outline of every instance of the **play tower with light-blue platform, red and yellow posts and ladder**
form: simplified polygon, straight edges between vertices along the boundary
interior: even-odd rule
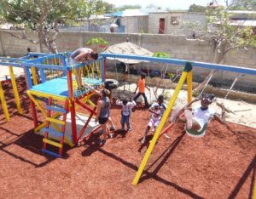
[[[78,89],[76,78],[82,77],[83,82],[94,88],[101,86],[105,80],[103,60],[99,58],[96,61],[69,65],[69,55],[29,54],[17,59],[19,62],[16,60],[14,63],[10,59],[1,62],[2,65],[24,68],[34,131],[44,134],[42,151],[57,157],[62,156],[64,142],[71,146],[77,145],[80,139],[89,137],[100,128],[99,124],[91,122],[96,114],[96,105],[90,100],[94,93],[89,88]],[[1,99],[4,99],[3,89],[0,91]],[[76,105],[87,111],[87,114],[79,113]],[[6,112],[6,105],[4,107]],[[43,113],[42,123],[38,122],[36,107]],[[81,129],[77,128],[78,118],[86,121],[80,123],[83,125]],[[67,122],[71,123],[69,134],[66,131]],[[47,150],[47,144],[59,148],[59,153]]]

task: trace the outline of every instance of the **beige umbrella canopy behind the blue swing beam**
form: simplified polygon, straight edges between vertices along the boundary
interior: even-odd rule
[[[152,56],[153,53],[148,51],[145,48],[139,47],[134,43],[125,42],[125,43],[118,43],[113,46],[109,46],[107,49],[104,50],[104,53],[108,54],[129,54],[129,55],[140,55],[140,56]],[[128,59],[121,59],[121,58],[107,58],[108,60],[119,60],[124,62],[125,64],[137,64],[142,62],[143,60],[128,60]]]

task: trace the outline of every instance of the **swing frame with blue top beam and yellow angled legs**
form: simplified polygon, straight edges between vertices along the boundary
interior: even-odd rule
[[[156,144],[157,140],[159,139],[160,135],[164,134],[168,129],[172,128],[173,124],[169,124],[163,131],[164,125],[166,123],[167,118],[170,116],[172,112],[172,107],[175,104],[175,101],[177,99],[177,95],[179,94],[179,91],[182,89],[183,83],[187,81],[187,100],[188,103],[192,100],[192,68],[195,67],[201,67],[201,68],[207,68],[211,70],[219,70],[219,71],[231,71],[236,72],[241,76],[242,75],[256,75],[256,70],[251,68],[242,68],[238,66],[231,66],[231,65],[217,65],[217,64],[209,64],[209,63],[202,63],[202,62],[188,62],[186,60],[175,60],[175,59],[162,59],[162,58],[153,58],[153,57],[144,57],[144,56],[133,56],[133,55],[121,55],[121,54],[101,54],[105,59],[108,57],[112,59],[130,59],[130,60],[145,60],[145,61],[153,61],[153,62],[161,62],[161,63],[169,63],[174,65],[182,65],[184,66],[183,73],[181,77],[179,78],[179,81],[177,82],[177,87],[175,88],[174,94],[172,95],[172,98],[170,99],[166,111],[164,113],[164,116],[162,117],[160,121],[159,127],[156,129],[154,133],[154,137],[150,142],[150,145],[148,146],[148,150],[145,153],[145,156],[143,157],[143,161],[138,168],[137,174],[135,178],[132,181],[132,185],[137,185],[139,179],[141,178],[143,174],[143,170],[146,167],[146,164],[148,162],[149,156],[154,150],[154,145]],[[210,80],[209,80],[210,81]],[[207,83],[209,82],[207,81]],[[230,89],[234,87],[234,84],[236,83],[237,78],[232,83]],[[229,92],[229,91],[228,91]],[[227,97],[227,94],[225,96],[225,99]],[[256,185],[254,183],[254,190]],[[255,192],[255,191],[254,191]],[[254,193],[255,195],[255,193]]]

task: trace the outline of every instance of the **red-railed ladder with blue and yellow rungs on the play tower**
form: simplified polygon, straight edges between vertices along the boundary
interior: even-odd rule
[[[64,144],[64,135],[65,135],[65,128],[66,128],[66,120],[67,120],[67,112],[68,112],[68,99],[65,100],[64,108],[60,107],[59,105],[56,106],[53,104],[52,97],[48,99],[48,105],[46,105],[47,110],[47,117],[46,117],[46,127],[42,130],[44,131],[44,139],[43,139],[43,149],[42,151],[48,153],[50,156],[61,157],[63,152],[63,144]],[[55,117],[51,117],[51,111],[59,112],[62,115],[62,120],[56,119]],[[50,124],[52,124],[54,128],[50,128]],[[61,125],[61,128],[59,127]],[[55,139],[50,138],[58,138],[60,139],[59,142],[56,142]],[[59,154],[47,150],[47,145],[53,145],[59,148]]]

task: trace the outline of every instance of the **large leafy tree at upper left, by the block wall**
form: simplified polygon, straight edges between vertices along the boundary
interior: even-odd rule
[[[59,26],[71,24],[78,19],[90,17],[90,14],[101,13],[104,7],[99,7],[101,0],[1,0],[0,13],[3,18],[16,25],[25,27],[22,37],[12,32],[12,36],[26,39],[31,43],[45,46],[51,53],[56,53],[55,39]],[[38,32],[38,41],[26,37],[26,30]]]

